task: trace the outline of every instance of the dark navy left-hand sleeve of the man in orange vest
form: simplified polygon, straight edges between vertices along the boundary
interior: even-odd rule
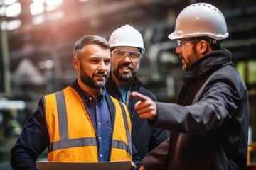
[[[11,149],[12,168],[14,170],[37,169],[35,161],[48,147],[49,141],[42,97],[35,113],[28,119],[16,144]]]

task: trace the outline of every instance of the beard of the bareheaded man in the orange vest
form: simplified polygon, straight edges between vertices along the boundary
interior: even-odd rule
[[[110,75],[107,74],[107,72],[93,72],[92,77],[90,77],[88,74],[85,73],[85,69],[82,67],[82,64],[80,65],[80,72],[80,79],[82,83],[87,86],[90,86],[93,89],[99,89],[102,88],[102,86],[105,86],[107,79],[110,77]],[[95,76],[104,76],[104,78],[100,78],[104,80],[95,80]]]

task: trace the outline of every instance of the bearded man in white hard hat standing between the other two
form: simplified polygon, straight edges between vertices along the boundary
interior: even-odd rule
[[[125,25],[114,30],[109,43],[112,71],[106,84],[107,93],[127,105],[132,118],[132,142],[139,157],[143,158],[168,137],[166,130],[151,128],[147,120],[139,118],[134,109],[137,99],[130,97],[132,91],[138,91],[156,101],[156,96],[144,89],[142,82],[135,77],[145,51],[143,38],[138,30]]]

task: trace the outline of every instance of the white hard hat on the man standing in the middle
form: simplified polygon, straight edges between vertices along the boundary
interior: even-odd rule
[[[114,30],[110,35],[109,43],[110,47],[138,47],[142,50],[142,54],[145,52],[142,34],[129,24]]]

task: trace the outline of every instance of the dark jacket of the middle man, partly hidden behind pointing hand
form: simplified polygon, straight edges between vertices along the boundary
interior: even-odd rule
[[[114,79],[110,77],[106,84],[107,93],[119,101],[122,101],[122,96],[117,89],[117,84]],[[132,91],[138,91],[145,96],[149,96],[152,100],[156,101],[156,96],[150,91],[142,87],[142,82],[134,77],[132,85],[129,86],[129,93]],[[166,130],[161,130],[158,128],[152,128],[147,120],[139,118],[139,114],[134,109],[134,104],[137,102],[136,98],[129,98],[128,109],[132,118],[132,142],[134,147],[137,149],[139,157],[144,158],[144,156],[154,149],[156,146],[160,145],[161,142],[167,139],[168,135]]]

